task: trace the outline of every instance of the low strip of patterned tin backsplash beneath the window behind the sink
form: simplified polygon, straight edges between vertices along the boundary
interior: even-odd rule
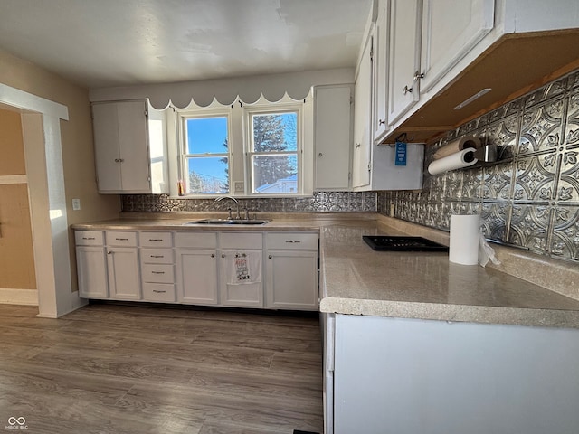
[[[304,198],[240,199],[240,208],[250,212],[376,212],[375,192],[319,192]],[[124,212],[227,211],[229,201],[171,199],[166,194],[124,194]]]

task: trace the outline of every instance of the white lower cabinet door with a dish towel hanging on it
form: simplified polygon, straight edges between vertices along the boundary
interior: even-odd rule
[[[263,307],[262,254],[262,250],[222,250],[219,288],[223,306]],[[252,262],[250,255],[253,255],[255,262]],[[246,261],[240,269],[247,270],[248,278],[255,280],[252,283],[233,282],[234,264],[240,259]]]

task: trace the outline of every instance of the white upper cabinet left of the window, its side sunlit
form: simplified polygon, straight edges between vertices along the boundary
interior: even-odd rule
[[[162,112],[147,100],[94,103],[99,193],[168,193]]]

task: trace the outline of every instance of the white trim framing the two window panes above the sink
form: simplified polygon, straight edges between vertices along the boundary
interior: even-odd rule
[[[252,193],[250,164],[251,126],[249,113],[276,111],[298,111],[301,123],[298,127],[298,165],[299,165],[299,192],[298,193]],[[179,199],[212,199],[224,194],[177,194],[177,181],[181,174],[185,174],[184,147],[184,117],[225,116],[228,113],[228,151],[229,151],[229,185],[231,195],[237,198],[299,198],[310,197],[313,194],[314,179],[314,128],[313,128],[313,100],[311,95],[303,101],[296,101],[287,95],[276,103],[271,103],[261,97],[253,104],[243,104],[237,99],[231,106],[223,106],[214,101],[206,108],[196,105],[187,109],[167,110],[167,141],[169,147],[169,179],[170,195]],[[184,179],[185,181],[185,179]],[[235,187],[243,187],[236,189]]]

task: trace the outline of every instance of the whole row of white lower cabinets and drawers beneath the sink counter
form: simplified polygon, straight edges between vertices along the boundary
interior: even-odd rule
[[[318,238],[305,231],[76,231],[79,291],[86,298],[317,310]]]

